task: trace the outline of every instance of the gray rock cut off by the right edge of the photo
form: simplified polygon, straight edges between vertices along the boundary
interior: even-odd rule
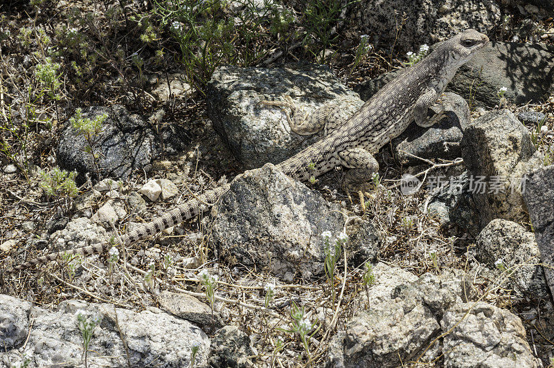
[[[531,223],[535,228],[546,281],[554,294],[554,165],[531,172],[527,179],[524,199]]]

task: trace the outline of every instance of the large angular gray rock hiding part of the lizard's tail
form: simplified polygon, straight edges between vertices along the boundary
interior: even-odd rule
[[[212,238],[223,257],[284,279],[323,273],[321,232],[339,234],[340,208],[272,164],[235,178],[213,209]]]

